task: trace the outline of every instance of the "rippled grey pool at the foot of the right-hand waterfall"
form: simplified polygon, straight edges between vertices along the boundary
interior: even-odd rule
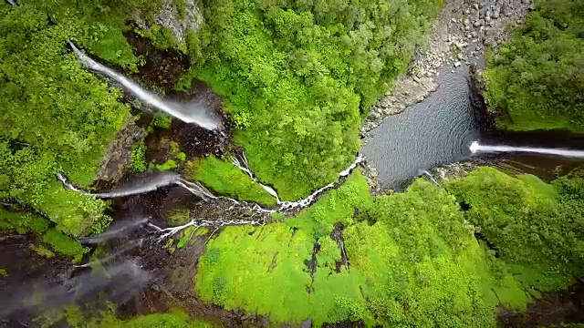
[[[412,177],[436,165],[468,159],[479,138],[471,106],[467,67],[444,67],[438,89],[371,131],[362,152],[378,169],[384,188],[401,189]]]

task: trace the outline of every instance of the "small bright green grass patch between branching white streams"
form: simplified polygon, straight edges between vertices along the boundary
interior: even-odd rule
[[[217,159],[213,155],[204,159],[194,159],[186,169],[190,179],[197,179],[215,192],[231,196],[237,200],[250,200],[264,205],[276,204],[260,185],[232,163]]]

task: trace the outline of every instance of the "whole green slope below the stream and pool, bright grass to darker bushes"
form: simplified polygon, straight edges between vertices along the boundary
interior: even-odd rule
[[[450,182],[453,194],[419,179],[405,192],[370,197],[355,173],[295,218],[226,228],[207,244],[195,292],[275,323],[310,316],[317,326],[495,326],[499,304],[525,310],[538,292],[583,276],[583,183],[548,185],[485,168]],[[556,215],[542,217],[543,208]],[[341,253],[329,237],[339,223],[349,272],[336,271]]]

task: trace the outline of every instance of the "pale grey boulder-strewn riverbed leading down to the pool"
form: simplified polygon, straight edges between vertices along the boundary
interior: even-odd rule
[[[523,22],[533,0],[447,0],[434,23],[428,45],[418,49],[410,68],[391,91],[370,108],[360,128],[361,138],[380,126],[383,118],[401,113],[435,91],[435,77],[443,66],[460,67],[484,61],[485,48],[498,46],[509,36],[509,26]]]

